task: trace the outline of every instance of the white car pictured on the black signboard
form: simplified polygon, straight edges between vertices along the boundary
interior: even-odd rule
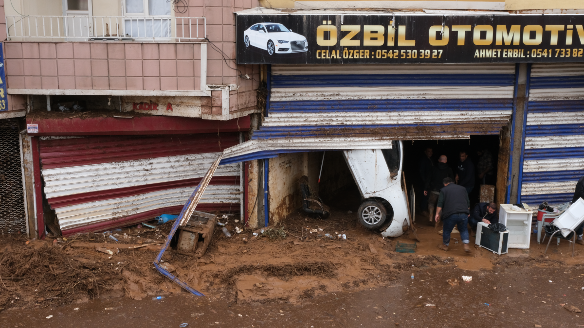
[[[270,55],[308,51],[304,36],[288,30],[279,23],[259,23],[244,31],[245,47],[254,46],[267,50]]]

